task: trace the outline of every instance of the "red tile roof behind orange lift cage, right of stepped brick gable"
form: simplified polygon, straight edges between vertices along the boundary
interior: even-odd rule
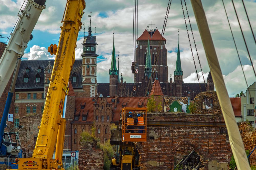
[[[148,97],[131,97],[129,100],[129,97],[118,97],[118,103],[115,108],[114,104],[112,105],[112,111],[114,113],[112,122],[120,120],[120,114],[122,111],[122,108],[125,107],[146,107],[147,106],[147,99]],[[110,100],[111,101],[111,100]]]

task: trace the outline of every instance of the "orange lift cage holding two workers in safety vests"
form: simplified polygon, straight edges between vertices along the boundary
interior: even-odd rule
[[[132,113],[129,113],[130,111]],[[138,113],[140,113],[141,116],[143,117],[143,121],[144,121],[143,124],[141,122],[142,118],[140,119],[139,123],[135,123]],[[127,118],[129,118],[130,114],[133,115],[134,125],[129,125],[126,123],[126,120]],[[131,126],[133,126],[134,129],[131,128]],[[142,133],[139,133],[139,132],[142,132]],[[122,136],[123,136],[122,138],[123,142],[146,142],[147,141],[147,108],[124,107],[122,109]]]

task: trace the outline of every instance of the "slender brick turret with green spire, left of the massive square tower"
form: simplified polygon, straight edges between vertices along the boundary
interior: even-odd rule
[[[114,44],[114,33],[113,33],[113,50],[112,50],[112,60],[111,68],[109,70],[109,96],[113,97],[116,95],[117,83],[119,79],[119,70],[116,68],[115,60],[115,44]]]

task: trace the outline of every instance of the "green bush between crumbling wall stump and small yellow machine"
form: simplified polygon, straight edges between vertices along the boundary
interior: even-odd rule
[[[104,155],[104,166],[103,169],[108,170],[110,169],[111,164],[111,157],[113,156],[114,150],[112,146],[110,145],[110,140],[107,140],[105,143],[99,143],[100,148],[103,149]]]

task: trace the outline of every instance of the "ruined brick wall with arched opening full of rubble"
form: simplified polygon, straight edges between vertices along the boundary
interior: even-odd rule
[[[221,115],[148,113],[148,121],[224,122]],[[206,124],[207,125],[207,124]],[[174,169],[180,147],[193,147],[204,169],[227,169],[232,155],[227,134],[218,126],[147,126],[147,142],[139,149],[142,169]],[[154,139],[150,139],[150,137]],[[208,168],[208,163],[211,167]]]

